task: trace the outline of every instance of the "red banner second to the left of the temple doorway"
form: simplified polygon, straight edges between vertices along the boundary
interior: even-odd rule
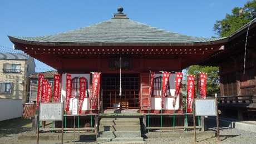
[[[80,77],[80,96],[78,101],[78,113],[81,114],[82,112],[82,106],[83,106],[83,100],[85,99],[86,95],[86,78]]]

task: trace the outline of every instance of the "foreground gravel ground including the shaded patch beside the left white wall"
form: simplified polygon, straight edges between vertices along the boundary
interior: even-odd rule
[[[21,120],[16,120],[21,121]],[[14,127],[16,128],[14,128]],[[18,141],[18,136],[31,134],[31,128],[29,128],[30,123],[25,121],[22,125],[8,125],[6,123],[0,123],[0,143],[36,143],[36,141]],[[210,131],[215,131],[214,127],[210,128]],[[159,132],[154,132],[156,135]],[[51,135],[51,133],[50,133]],[[232,128],[222,127],[220,131],[220,143],[256,143],[256,133],[246,132],[242,130],[236,130]],[[146,143],[148,144],[164,144],[164,143],[193,143],[193,137],[185,138],[175,138],[175,137],[157,137],[157,138],[146,138]],[[50,143],[60,143],[60,141],[41,141],[40,143],[50,144]],[[96,143],[95,141],[87,142],[73,142],[65,141],[65,143]],[[217,143],[216,137],[213,136],[203,136],[197,138],[197,143]]]

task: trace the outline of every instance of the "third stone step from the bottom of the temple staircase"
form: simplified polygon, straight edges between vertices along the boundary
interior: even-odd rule
[[[140,131],[140,125],[101,125],[99,131]]]

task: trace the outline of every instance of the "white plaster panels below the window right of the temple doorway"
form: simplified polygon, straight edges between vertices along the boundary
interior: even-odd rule
[[[179,96],[176,100],[175,110],[179,110]],[[151,110],[161,110],[161,97],[151,98]],[[174,110],[173,97],[165,97],[164,110]]]

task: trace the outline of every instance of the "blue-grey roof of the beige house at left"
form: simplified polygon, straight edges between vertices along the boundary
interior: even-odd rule
[[[0,59],[27,60],[29,56],[25,53],[0,53]]]

